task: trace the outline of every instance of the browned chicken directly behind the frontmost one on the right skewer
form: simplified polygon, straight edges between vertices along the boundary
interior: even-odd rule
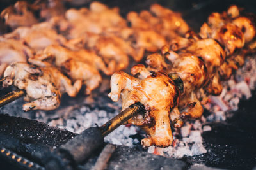
[[[179,103],[179,110],[182,111],[182,117],[199,118],[204,109],[197,99],[198,90],[204,87],[208,80],[207,69],[204,62],[192,55],[191,53],[177,54],[169,51],[165,57],[172,62],[169,66],[164,62],[164,57],[157,53],[149,55],[146,63],[151,71],[163,70],[165,73],[175,78],[177,87],[180,87],[182,92]],[[180,80],[180,79],[181,80]],[[180,83],[183,85],[180,85]],[[178,127],[181,127],[182,122],[179,122]]]

